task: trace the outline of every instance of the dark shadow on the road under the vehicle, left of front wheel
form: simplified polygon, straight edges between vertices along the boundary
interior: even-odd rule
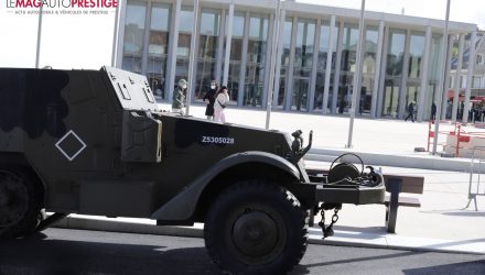
[[[205,248],[33,238],[0,243],[0,274],[220,274]]]

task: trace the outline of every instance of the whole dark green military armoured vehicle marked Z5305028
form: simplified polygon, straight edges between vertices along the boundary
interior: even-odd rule
[[[315,215],[385,194],[380,175],[348,163],[310,180],[303,145],[301,131],[163,112],[146,77],[117,68],[0,68],[0,235],[68,213],[204,222],[224,271],[282,274]]]

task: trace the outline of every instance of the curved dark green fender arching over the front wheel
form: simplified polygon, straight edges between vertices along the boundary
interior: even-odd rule
[[[295,180],[300,179],[298,168],[281,156],[258,151],[237,153],[217,162],[211,169],[198,176],[169,202],[160,207],[151,218],[166,221],[188,220],[197,207],[202,193],[213,179],[231,167],[247,163],[269,165],[291,175]],[[250,173],[250,170],[247,172],[248,176]],[[237,182],[237,179],[235,179],[235,182]]]

